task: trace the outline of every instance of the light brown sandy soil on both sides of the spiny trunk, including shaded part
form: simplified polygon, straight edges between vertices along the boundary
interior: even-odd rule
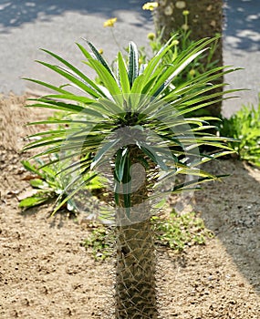
[[[20,160],[22,125],[46,117],[0,97],[0,318],[109,318],[113,262],[95,262],[80,246],[88,227],[50,205],[21,212],[28,190]],[[161,318],[258,319],[260,314],[260,171],[234,160],[209,170],[230,173],[192,199],[216,236],[176,255],[158,251]]]

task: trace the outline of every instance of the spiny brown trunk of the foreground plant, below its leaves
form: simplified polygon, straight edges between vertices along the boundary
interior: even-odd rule
[[[143,157],[140,149],[130,149],[130,165]],[[132,172],[131,184],[140,180]],[[116,227],[116,318],[157,319],[155,285],[155,249],[148,199],[147,179],[130,192],[130,210],[125,208],[123,195],[117,210]]]

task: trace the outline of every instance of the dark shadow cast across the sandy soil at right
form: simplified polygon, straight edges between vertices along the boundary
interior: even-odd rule
[[[208,170],[213,174],[230,176],[197,192],[195,209],[202,212],[206,227],[223,242],[237,269],[260,294],[260,180],[252,176],[254,168],[239,161],[211,165]]]

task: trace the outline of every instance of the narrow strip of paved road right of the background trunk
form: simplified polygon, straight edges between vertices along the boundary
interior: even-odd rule
[[[260,92],[260,1],[227,0],[224,30],[224,64],[244,67],[225,78],[231,88],[246,87],[235,98],[224,102],[224,116],[242,104],[258,105]]]

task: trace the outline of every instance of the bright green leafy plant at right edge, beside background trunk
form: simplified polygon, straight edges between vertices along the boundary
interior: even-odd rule
[[[236,139],[229,145],[241,160],[260,167],[260,103],[258,108],[244,106],[231,118],[223,118],[220,134]]]

